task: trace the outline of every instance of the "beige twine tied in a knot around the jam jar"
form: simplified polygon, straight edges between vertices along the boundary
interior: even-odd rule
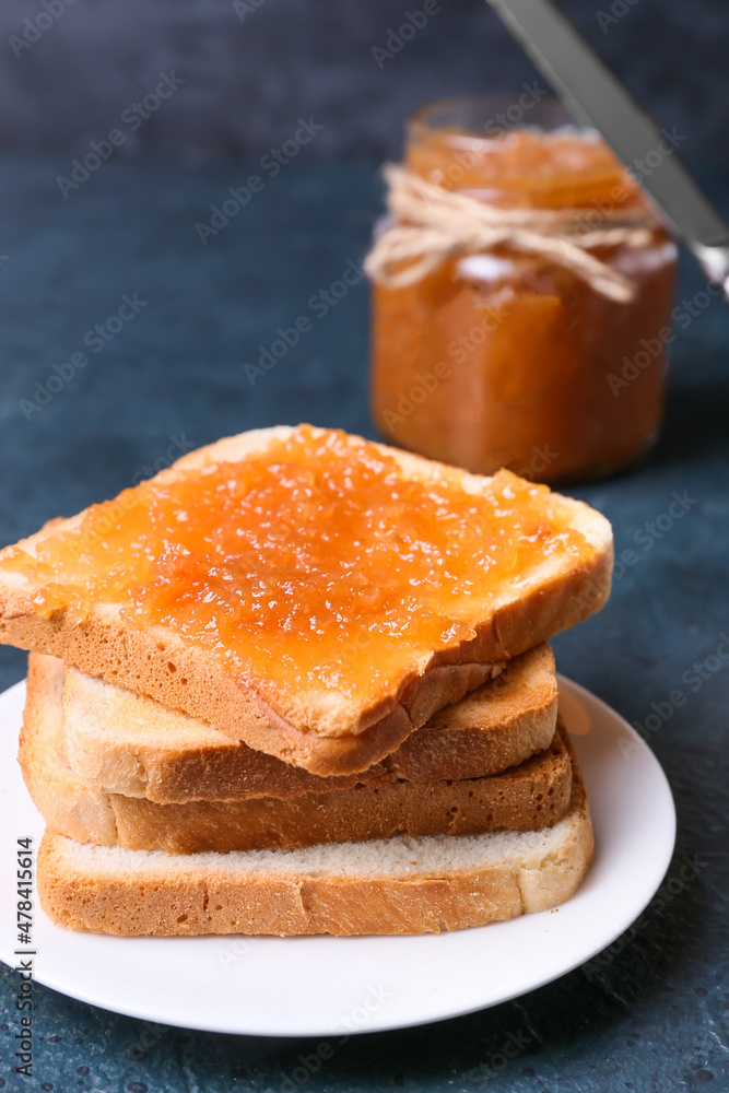
[[[465,193],[433,186],[389,163],[383,169],[389,190],[387,207],[395,219],[365,258],[365,271],[391,289],[414,284],[454,255],[494,247],[541,255],[571,270],[602,296],[628,303],[635,285],[588,254],[591,247],[643,247],[658,226],[647,209],[599,215],[604,227],[587,223],[592,209],[501,209]]]

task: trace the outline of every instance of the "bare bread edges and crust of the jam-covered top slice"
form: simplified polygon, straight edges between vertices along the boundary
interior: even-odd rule
[[[161,472],[158,479],[166,481],[178,469],[215,459],[242,458],[264,447],[270,437],[286,432],[258,431],[228,437],[189,454]],[[397,455],[404,473],[454,473],[452,468],[380,447]],[[462,480],[477,481],[466,472]],[[59,657],[93,675],[210,721],[232,739],[314,774],[352,774],[378,762],[442,706],[459,701],[491,678],[494,665],[546,640],[602,607],[612,572],[610,527],[580,502],[565,504],[571,507],[575,527],[590,542],[584,560],[571,567],[548,567],[532,574],[531,586],[505,592],[503,602],[496,603],[486,618],[474,620],[471,640],[444,650],[424,649],[418,668],[400,680],[396,693],[373,692],[356,710],[345,702],[321,710],[307,705],[302,695],[290,695],[285,707],[274,708],[227,675],[205,650],[188,646],[171,631],[131,630],[113,604],[94,608],[81,620],[69,611],[44,619],[36,614],[36,589],[26,587],[15,573],[0,573],[0,643]],[[79,518],[67,521],[68,526]],[[21,545],[33,551],[37,538],[24,540]]]

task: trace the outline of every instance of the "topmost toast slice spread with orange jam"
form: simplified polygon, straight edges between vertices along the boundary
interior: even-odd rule
[[[0,552],[0,642],[351,774],[599,610],[611,571],[610,525],[581,502],[281,426]]]

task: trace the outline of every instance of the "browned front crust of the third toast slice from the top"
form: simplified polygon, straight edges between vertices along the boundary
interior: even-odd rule
[[[290,849],[403,834],[480,835],[499,827],[536,831],[562,819],[571,787],[569,756],[557,733],[546,752],[491,778],[395,781],[295,798],[187,804],[109,797],[119,846],[196,854]],[[43,802],[36,804],[44,812]],[[55,825],[49,822],[49,826]],[[98,842],[94,834],[87,832],[84,842]]]

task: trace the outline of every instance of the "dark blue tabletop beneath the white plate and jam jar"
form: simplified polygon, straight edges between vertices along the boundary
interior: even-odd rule
[[[219,218],[204,244],[196,224],[210,224],[212,205],[245,184],[246,164],[199,173],[105,164],[64,199],[56,178],[67,173],[52,161],[0,164],[0,544],[113,496],[186,445],[296,421],[375,435],[367,287],[360,280],[326,308],[321,295],[366,250],[380,202],[373,164],[292,164],[228,223]],[[729,192],[714,184],[719,198]],[[679,298],[703,304],[703,287],[686,259]],[[125,294],[136,314],[127,308],[94,352],[93,328]],[[675,796],[675,858],[643,928],[516,1001],[353,1037],[316,1072],[299,1060],[316,1042],[160,1026],[141,1047],[139,1022],[38,987],[28,1081],[12,1072],[17,979],[3,967],[0,1090],[729,1088],[729,660],[717,656],[729,632],[729,312],[716,299],[693,309],[672,346],[651,458],[573,491],[612,520],[618,554],[633,550],[635,564],[616,571],[601,614],[554,640],[565,674],[628,720],[649,718]],[[302,315],[311,329],[251,383],[245,365]],[[63,365],[74,353],[89,363],[72,374]],[[54,365],[70,378],[49,391]],[[677,493],[685,512],[667,517]],[[687,685],[706,658],[710,670]],[[0,687],[23,673],[24,655],[0,649]],[[681,705],[669,698],[677,689]],[[686,857],[698,862],[689,881]],[[520,1048],[507,1059],[509,1035]]]

